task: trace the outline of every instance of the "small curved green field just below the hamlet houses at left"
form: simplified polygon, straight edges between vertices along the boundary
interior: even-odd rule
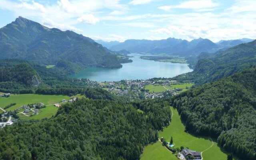
[[[20,119],[23,119],[23,120],[32,120],[32,119],[41,120],[43,118],[51,118],[57,113],[57,111],[58,111],[58,107],[50,105],[50,106],[46,106],[46,108],[40,109],[39,114],[33,115],[31,117],[25,116],[24,114],[21,114],[21,113],[18,115]]]

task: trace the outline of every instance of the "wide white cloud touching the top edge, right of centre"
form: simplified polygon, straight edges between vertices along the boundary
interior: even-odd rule
[[[212,0],[190,0],[182,2],[179,5],[160,6],[158,9],[170,11],[173,8],[192,9],[198,11],[208,11],[210,8],[217,7],[219,4],[212,2]],[[211,9],[212,10],[212,9]]]

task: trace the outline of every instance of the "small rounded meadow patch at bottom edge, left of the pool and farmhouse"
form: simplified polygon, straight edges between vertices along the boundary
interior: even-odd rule
[[[162,143],[157,141],[148,144],[143,150],[140,160],[177,160],[175,154],[162,146]]]

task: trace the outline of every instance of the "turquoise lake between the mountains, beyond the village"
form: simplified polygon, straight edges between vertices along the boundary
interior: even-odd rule
[[[133,62],[122,64],[122,68],[86,68],[70,77],[88,78],[89,80],[98,82],[136,79],[146,80],[154,77],[169,78],[192,71],[192,69],[188,67],[188,64],[143,60],[140,59],[140,56],[145,56],[142,54],[129,54],[129,56],[134,56],[130,58]]]

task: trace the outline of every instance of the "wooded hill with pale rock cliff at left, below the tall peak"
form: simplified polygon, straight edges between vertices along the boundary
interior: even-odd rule
[[[66,71],[57,67],[46,68],[20,59],[0,60],[0,92],[74,95],[82,88],[97,85],[90,80],[69,78]]]

